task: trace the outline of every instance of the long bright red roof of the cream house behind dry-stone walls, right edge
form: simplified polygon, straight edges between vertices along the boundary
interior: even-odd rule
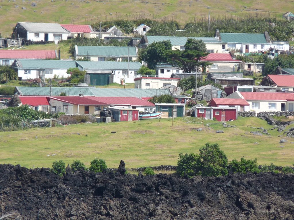
[[[240,92],[246,100],[260,101],[290,101],[294,99],[294,93],[287,92]]]

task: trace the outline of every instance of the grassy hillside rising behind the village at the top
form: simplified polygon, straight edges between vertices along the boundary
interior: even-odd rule
[[[31,4],[35,2],[36,6]],[[173,19],[179,23],[218,16],[281,17],[293,9],[293,1],[77,1],[37,0],[0,1],[0,33],[9,37],[17,22],[53,22],[64,24],[93,24],[113,19]]]

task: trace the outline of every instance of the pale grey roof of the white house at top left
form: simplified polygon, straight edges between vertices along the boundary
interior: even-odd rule
[[[19,22],[19,24],[29,32],[69,33],[57,23]]]

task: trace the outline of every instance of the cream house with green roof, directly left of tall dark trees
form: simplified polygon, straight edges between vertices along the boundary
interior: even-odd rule
[[[114,46],[77,46],[74,50],[75,59],[87,58],[91,61],[130,61],[137,60],[137,47],[114,47]]]

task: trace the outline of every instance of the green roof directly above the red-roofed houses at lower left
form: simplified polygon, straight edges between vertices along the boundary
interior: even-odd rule
[[[50,96],[50,87],[16,87],[17,91],[22,96]],[[52,96],[59,96],[64,92],[67,96],[94,96],[89,88],[66,88],[66,87],[52,87]]]

